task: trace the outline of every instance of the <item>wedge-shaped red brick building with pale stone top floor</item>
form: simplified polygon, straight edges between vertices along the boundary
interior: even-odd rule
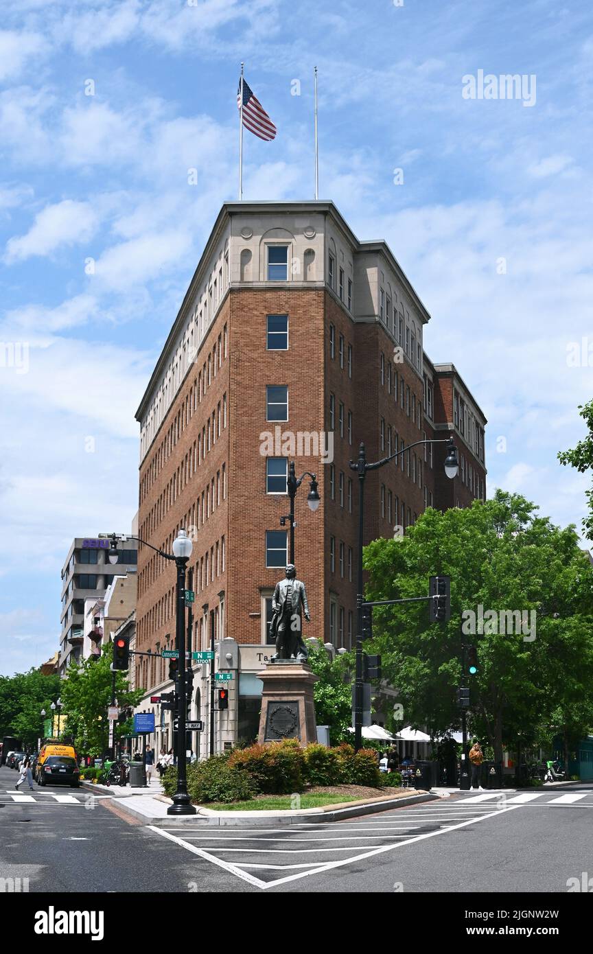
[[[317,474],[321,497],[317,512],[306,482],[296,497],[296,570],[312,612],[303,635],[337,647],[355,635],[348,465],[360,441],[370,460],[450,432],[460,448],[460,475],[446,485],[439,445],[369,474],[365,542],[427,506],[485,496],[486,421],[454,365],[424,354],[429,319],[386,243],[359,241],[332,202],[223,205],[136,413],[139,536],[171,552],[177,530],[191,532],[192,649],[214,633],[216,668],[233,670],[217,750],[256,732],[256,673],[287,561],[289,460],[297,476]],[[174,585],[174,566],[139,545],[136,648],[153,655],[138,657],[136,680],[147,696],[171,688],[160,653],[174,647]],[[208,716],[207,675],[195,667],[193,718]],[[168,718],[157,746],[171,745]]]

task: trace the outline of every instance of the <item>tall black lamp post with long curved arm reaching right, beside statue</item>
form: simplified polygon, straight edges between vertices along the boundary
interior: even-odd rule
[[[453,479],[457,476],[459,469],[457,447],[453,443],[453,438],[449,437],[442,440],[416,441],[404,447],[403,450],[397,450],[395,454],[389,457],[383,457],[380,461],[369,464],[366,459],[364,444],[361,442],[358,448],[358,460],[350,461],[351,470],[358,473],[358,574],[357,574],[357,642],[356,642],[356,677],[355,677],[355,712],[354,712],[354,745],[358,749],[362,748],[362,703],[363,703],[363,679],[362,679],[362,603],[364,600],[363,581],[362,581],[362,539],[364,534],[364,481],[367,470],[378,470],[378,467],[384,467],[390,461],[395,460],[400,454],[409,453],[412,447],[422,444],[446,444],[447,456],[444,461],[444,470],[447,477]]]

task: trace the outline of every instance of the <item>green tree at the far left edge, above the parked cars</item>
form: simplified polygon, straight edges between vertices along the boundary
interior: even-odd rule
[[[0,736],[17,736],[33,748],[43,735],[41,710],[51,715],[51,702],[60,690],[58,675],[43,675],[38,669],[0,676]]]

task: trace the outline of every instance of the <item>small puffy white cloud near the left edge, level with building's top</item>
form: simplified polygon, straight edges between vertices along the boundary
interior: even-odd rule
[[[71,198],[48,205],[35,216],[29,232],[9,239],[5,260],[9,263],[31,256],[50,255],[62,245],[89,241],[98,228],[98,219],[89,202]]]

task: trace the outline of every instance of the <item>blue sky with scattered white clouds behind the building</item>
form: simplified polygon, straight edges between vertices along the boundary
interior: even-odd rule
[[[319,197],[432,315],[488,496],[580,528],[590,477],[556,457],[592,397],[592,54],[588,0],[3,0],[1,673],[57,649],[72,538],[130,529],[134,412],[236,198],[241,61],[278,130],[245,134],[244,197],[314,197],[317,65]]]

